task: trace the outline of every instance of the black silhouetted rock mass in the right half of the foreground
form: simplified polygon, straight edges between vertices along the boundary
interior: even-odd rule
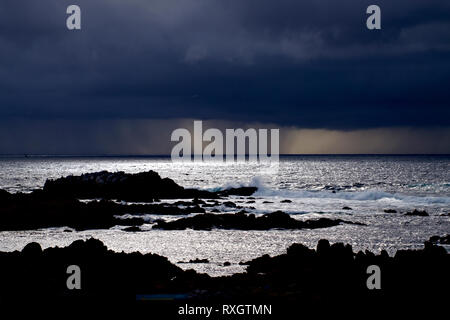
[[[374,301],[377,305],[395,301],[397,306],[399,301],[414,301],[428,302],[431,306],[436,303],[434,299],[442,303],[447,296],[450,277],[446,269],[450,267],[450,259],[443,248],[427,245],[423,250],[400,250],[392,258],[385,251],[380,255],[368,251],[355,254],[349,245],[330,245],[326,240],[320,240],[317,247],[315,251],[293,244],[286,254],[264,255],[247,262],[247,277],[232,278],[244,288],[249,279],[258,279],[260,288],[271,288],[262,291],[259,298],[270,292],[293,304],[302,301],[303,305],[309,301],[323,306],[326,301],[339,306],[352,301],[361,307]],[[382,290],[369,290],[366,286],[370,265],[380,267]]]

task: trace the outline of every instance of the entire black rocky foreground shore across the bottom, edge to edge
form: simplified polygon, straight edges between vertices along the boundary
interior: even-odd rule
[[[164,294],[177,297],[165,305],[170,316],[183,303],[253,301],[350,310],[395,301],[397,306],[432,303],[429,307],[436,309],[444,307],[439,301],[448,299],[450,256],[430,242],[424,249],[399,250],[390,257],[385,251],[354,253],[350,245],[320,240],[316,250],[293,244],[285,254],[265,255],[246,264],[245,273],[214,278],[182,270],[158,255],[113,252],[95,239],[45,250],[30,243],[21,252],[0,253],[0,302],[20,302],[26,293],[43,303],[114,302],[117,307],[145,303],[137,301],[137,295]],[[80,290],[66,287],[69,265],[81,269]],[[380,267],[381,290],[366,286],[370,265]]]

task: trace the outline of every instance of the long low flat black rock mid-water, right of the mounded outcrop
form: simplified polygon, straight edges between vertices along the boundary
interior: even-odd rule
[[[337,226],[341,223],[357,224],[340,219],[320,218],[301,221],[291,218],[287,213],[276,211],[256,217],[254,214],[238,212],[236,214],[200,214],[194,217],[181,218],[170,222],[159,222],[153,228],[165,230],[268,230],[268,229],[316,229]]]

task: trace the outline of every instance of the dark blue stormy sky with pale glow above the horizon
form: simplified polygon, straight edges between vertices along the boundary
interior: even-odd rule
[[[279,127],[284,153],[450,153],[449,87],[448,0],[0,2],[0,154],[165,153],[187,119]]]

